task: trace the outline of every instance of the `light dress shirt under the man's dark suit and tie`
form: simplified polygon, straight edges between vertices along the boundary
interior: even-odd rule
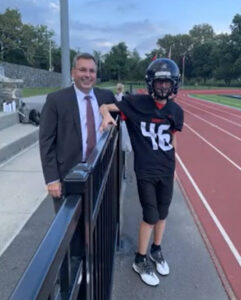
[[[81,124],[81,133],[82,133],[82,147],[83,147],[83,156],[82,161],[86,159],[86,149],[87,149],[87,120],[86,120],[86,99],[85,96],[88,95],[91,97],[89,101],[91,101],[91,105],[94,112],[94,119],[95,119],[95,130],[96,130],[96,143],[98,143],[102,133],[100,132],[99,128],[102,122],[102,116],[99,112],[99,105],[94,94],[94,90],[91,89],[88,94],[83,93],[74,85],[75,93],[78,100],[78,107],[79,107],[79,116],[80,116],[80,124]]]

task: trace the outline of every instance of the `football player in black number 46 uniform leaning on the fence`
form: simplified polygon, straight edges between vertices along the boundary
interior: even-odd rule
[[[173,193],[175,132],[182,129],[183,110],[168,99],[177,92],[180,81],[174,61],[156,59],[147,68],[145,79],[149,95],[126,96],[120,102],[101,106],[101,130],[109,124],[116,125],[110,111],[124,113],[143,210],[138,251],[132,267],[146,284],[156,286],[159,278],[147,258],[147,248],[154,231],[150,258],[159,274],[168,275],[169,266],[162,254],[161,241]]]

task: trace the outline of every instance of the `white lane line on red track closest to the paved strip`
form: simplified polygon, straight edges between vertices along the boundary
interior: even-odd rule
[[[195,191],[197,192],[199,198],[201,199],[203,205],[207,209],[209,215],[211,216],[212,220],[214,221],[215,225],[217,226],[218,230],[220,231],[222,237],[224,238],[225,242],[227,243],[229,249],[233,253],[234,257],[236,258],[239,266],[241,267],[241,256],[238,252],[238,250],[235,248],[233,242],[231,241],[230,237],[226,233],[225,229],[223,228],[222,224],[219,222],[218,218],[216,217],[215,213],[213,212],[211,206],[208,204],[207,200],[205,199],[203,193],[199,189],[198,185],[192,178],[191,174],[188,172],[187,168],[185,167],[184,163],[182,162],[179,155],[176,153],[177,160],[179,161],[181,167],[183,168],[185,174],[187,175],[188,179],[190,180],[191,184],[193,185]]]

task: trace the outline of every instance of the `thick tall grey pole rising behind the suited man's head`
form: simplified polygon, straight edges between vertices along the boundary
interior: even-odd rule
[[[68,0],[60,0],[62,87],[70,85]]]

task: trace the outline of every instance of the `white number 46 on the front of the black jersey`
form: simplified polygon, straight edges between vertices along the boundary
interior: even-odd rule
[[[141,122],[141,133],[143,136],[151,139],[153,150],[158,150],[158,146],[163,151],[168,151],[173,148],[172,144],[170,144],[171,135],[168,132],[164,133],[164,131],[168,130],[169,128],[170,125],[167,124],[158,125],[155,123],[150,123],[150,131],[147,131],[146,122]]]

